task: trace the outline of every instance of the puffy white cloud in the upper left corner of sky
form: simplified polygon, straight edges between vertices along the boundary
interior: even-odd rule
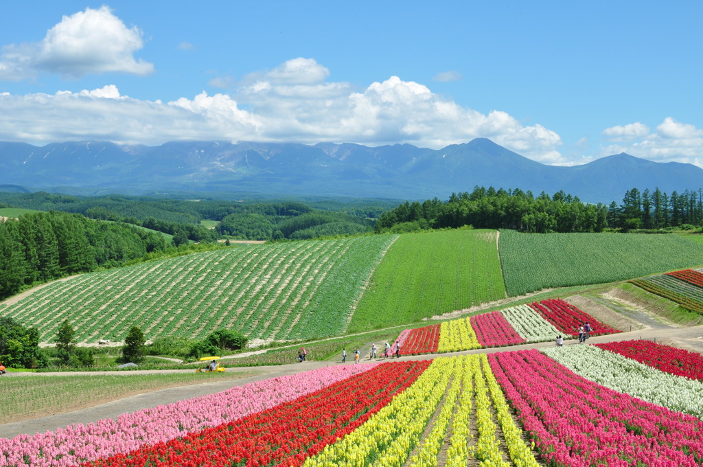
[[[64,16],[42,41],[4,46],[0,79],[27,79],[39,72],[71,78],[105,72],[150,75],[154,65],[134,58],[142,48],[136,26],[128,29],[107,6],[86,8]]]

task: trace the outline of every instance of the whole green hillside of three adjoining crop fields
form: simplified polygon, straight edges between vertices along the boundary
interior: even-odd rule
[[[89,343],[122,340],[135,325],[149,339],[217,328],[321,338],[703,264],[703,245],[676,235],[501,231],[499,250],[497,237],[458,229],[199,252],[50,283],[1,303],[0,316],[36,327],[44,342],[64,319]]]

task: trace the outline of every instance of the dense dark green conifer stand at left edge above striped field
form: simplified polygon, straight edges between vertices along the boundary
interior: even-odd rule
[[[120,266],[171,247],[157,232],[65,212],[34,212],[0,222],[0,299],[22,286]]]

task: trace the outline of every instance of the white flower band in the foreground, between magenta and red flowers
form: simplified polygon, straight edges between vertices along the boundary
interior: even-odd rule
[[[593,345],[542,350],[568,369],[595,383],[703,418],[703,383],[664,373]]]

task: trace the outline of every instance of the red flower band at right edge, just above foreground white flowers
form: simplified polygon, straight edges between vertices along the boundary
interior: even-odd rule
[[[703,355],[696,352],[653,343],[650,340],[625,340],[595,346],[672,375],[703,381]]]

